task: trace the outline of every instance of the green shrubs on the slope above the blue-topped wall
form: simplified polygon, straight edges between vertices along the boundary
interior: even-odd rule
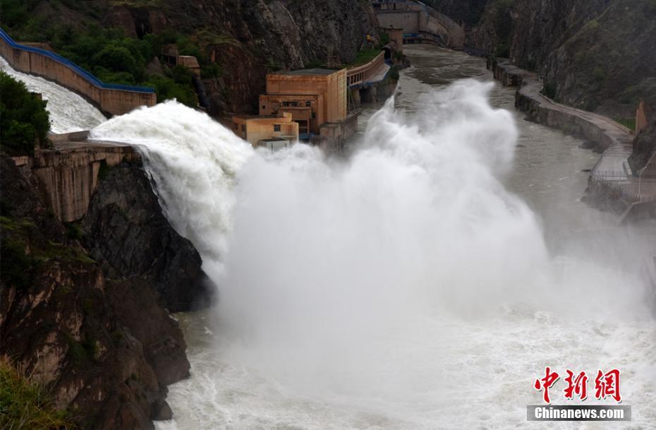
[[[93,2],[62,1],[66,6],[94,16]],[[49,42],[57,54],[73,61],[105,83],[142,85],[155,88],[159,102],[176,98],[194,107],[198,100],[193,87],[193,75],[188,68],[176,66],[147,68],[162,53],[165,44],[174,44],[181,55],[198,59],[202,78],[217,78],[223,74],[221,66],[209,61],[202,47],[235,42],[231,37],[201,28],[193,35],[166,31],[142,38],[126,37],[118,28],[102,28],[87,23],[83,30],[71,25],[51,23],[40,16],[32,16],[36,0],[0,0],[3,28],[16,40]],[[71,4],[68,4],[71,3]],[[130,7],[162,6],[161,0],[115,1]],[[88,5],[87,5],[88,4]],[[54,5],[56,7],[56,4]],[[182,70],[184,69],[184,70]]]

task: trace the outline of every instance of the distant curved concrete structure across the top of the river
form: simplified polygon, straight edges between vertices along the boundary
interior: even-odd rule
[[[403,42],[426,42],[451,49],[462,49],[463,28],[444,13],[416,0],[374,0],[378,23],[382,28],[402,28]]]

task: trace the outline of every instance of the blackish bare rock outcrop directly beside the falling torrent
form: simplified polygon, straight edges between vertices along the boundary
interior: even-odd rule
[[[109,277],[144,277],[170,311],[208,304],[211,284],[200,255],[162,214],[140,162],[109,170],[82,227],[85,248]]]

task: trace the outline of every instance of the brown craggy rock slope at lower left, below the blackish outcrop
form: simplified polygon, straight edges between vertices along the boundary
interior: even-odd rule
[[[152,280],[106,277],[107,263],[90,258],[79,230],[57,220],[13,160],[0,168],[0,354],[42,381],[80,428],[152,429],[170,417],[166,384],[188,376],[178,324]]]

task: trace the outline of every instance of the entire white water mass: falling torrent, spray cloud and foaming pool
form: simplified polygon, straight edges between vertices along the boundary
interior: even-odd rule
[[[175,420],[160,429],[533,429],[525,408],[547,365],[619,367],[633,422],[540,428],[652,428],[642,286],[549,255],[502,186],[517,132],[489,91],[460,81],[416,114],[390,101],[349,160],[255,152],[176,102],[92,131],[142,145],[219,285],[217,309],[181,316],[192,378],[170,387]]]

